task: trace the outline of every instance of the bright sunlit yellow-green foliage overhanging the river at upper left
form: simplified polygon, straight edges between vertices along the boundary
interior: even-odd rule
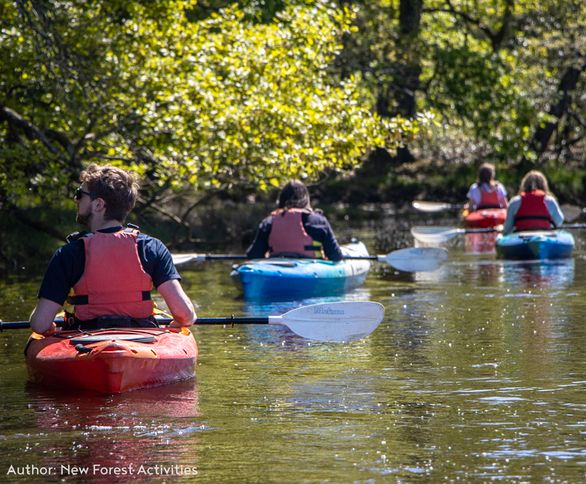
[[[0,200],[14,207],[61,204],[91,161],[152,192],[315,179],[428,121],[381,122],[359,77],[330,80],[348,9],[262,23],[231,6],[189,22],[194,1],[2,2]]]

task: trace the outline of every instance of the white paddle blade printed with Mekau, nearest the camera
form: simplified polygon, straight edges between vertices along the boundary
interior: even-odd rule
[[[269,324],[286,325],[307,339],[341,342],[367,337],[379,327],[384,316],[385,308],[378,302],[328,302],[269,316]]]

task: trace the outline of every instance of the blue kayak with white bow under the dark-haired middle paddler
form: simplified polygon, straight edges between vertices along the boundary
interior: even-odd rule
[[[362,242],[341,246],[345,256],[368,256]],[[339,262],[305,258],[249,261],[230,273],[244,298],[307,298],[337,295],[360,286],[370,270],[367,260]]]

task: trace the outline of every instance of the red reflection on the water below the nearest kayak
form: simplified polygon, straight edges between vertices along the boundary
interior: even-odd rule
[[[130,475],[146,480],[163,467],[167,474],[197,467],[198,435],[205,424],[196,379],[124,395],[32,383],[24,389],[27,411],[12,415],[12,429],[2,430],[12,456],[3,462],[15,468],[20,462],[21,468],[34,464],[39,473],[59,480],[85,474],[91,482],[122,483]]]

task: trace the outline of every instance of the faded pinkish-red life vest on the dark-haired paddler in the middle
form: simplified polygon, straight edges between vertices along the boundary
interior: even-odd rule
[[[290,208],[272,212],[272,226],[269,234],[270,256],[298,254],[301,257],[323,258],[322,244],[313,240],[303,227],[302,214],[309,210]]]

